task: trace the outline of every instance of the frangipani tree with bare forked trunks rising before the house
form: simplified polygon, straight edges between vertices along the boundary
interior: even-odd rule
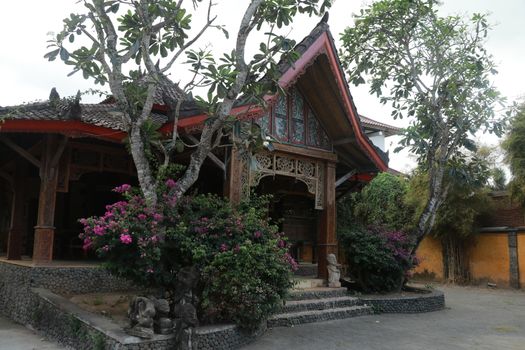
[[[162,96],[175,121],[172,139],[161,143],[166,166],[170,153],[177,146],[181,104],[193,98],[196,88],[208,89],[205,96],[195,97],[209,119],[178,183],[178,194],[182,195],[197,180],[204,159],[220,142],[223,127],[232,119],[232,107],[239,97],[261,103],[264,95],[277,90],[277,59],[293,61],[296,58],[294,42],[279,34],[279,29],[289,25],[299,13],[324,13],[332,2],[243,2],[246,9],[236,33],[235,46],[221,56],[195,48],[197,41],[211,29],[228,35],[213,15],[211,0],[84,0],[85,12],[64,19],[64,28],[50,40],[52,51],[45,57],[51,61],[59,57],[72,66],[72,73],[82,72],[86,79],[109,85],[129,134],[140,187],[148,205],[155,205],[157,183],[144,151],[144,127],[150,120],[155,97]],[[192,11],[204,11],[206,21],[190,36]],[[254,31],[264,33],[265,40],[260,43],[259,52],[247,57],[246,46]],[[88,38],[90,44],[77,44],[77,36]],[[177,64],[181,60],[186,60],[193,75],[189,81],[178,84],[171,76],[180,79],[181,74],[176,69],[180,69]]]

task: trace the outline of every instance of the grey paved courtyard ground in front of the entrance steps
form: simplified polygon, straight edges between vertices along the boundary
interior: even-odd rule
[[[439,287],[447,308],[268,331],[243,350],[525,350],[525,292]]]

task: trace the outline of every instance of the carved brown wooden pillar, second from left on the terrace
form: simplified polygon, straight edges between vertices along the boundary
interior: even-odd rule
[[[46,263],[53,260],[55,239],[55,204],[58,183],[58,164],[63,151],[57,135],[46,135],[40,160],[40,194],[38,218],[35,226],[33,262]]]

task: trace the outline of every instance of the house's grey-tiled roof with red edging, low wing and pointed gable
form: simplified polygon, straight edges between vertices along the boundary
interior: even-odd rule
[[[335,114],[338,114],[341,118],[344,116],[348,124],[343,125],[344,128],[338,131],[345,132],[344,137],[352,136],[355,138],[355,142],[352,141],[352,143],[346,145],[342,144],[338,147],[337,151],[344,153],[349,150],[354,150],[355,152],[355,149],[359,148],[361,152],[366,154],[366,157],[372,161],[375,168],[384,171],[388,169],[388,157],[372,144],[363,129],[363,124],[372,129],[381,130],[381,128],[383,128],[385,131],[389,126],[358,115],[348,84],[344,78],[344,72],[337,56],[333,37],[326,23],[327,19],[328,16],[326,14],[310,34],[296,45],[295,50],[300,54],[300,57],[294,64],[290,64],[287,61],[281,61],[279,63],[279,70],[282,73],[279,84],[284,88],[288,88],[299,80],[302,80],[304,83],[305,79],[300,78],[307,73],[311,66],[320,66],[325,70],[327,69],[324,66],[328,66],[329,73],[326,74],[327,77],[323,77],[323,79],[331,80],[330,83],[333,85],[333,94],[337,95],[336,100],[334,100],[334,104],[337,104],[337,106],[332,106],[332,108],[337,109],[339,113]],[[322,58],[322,56],[324,58]],[[170,91],[168,93],[170,93]],[[174,93],[177,95],[180,94],[180,91],[176,90]],[[269,96],[268,98],[271,99],[272,97]],[[169,132],[171,128],[169,123],[167,123],[168,118],[165,115],[166,108],[160,105],[162,103],[161,96],[157,96],[155,102],[155,110],[152,114],[153,120],[157,124],[163,125],[162,129],[164,131]],[[64,127],[64,131],[66,131],[70,130],[73,124],[75,124],[77,128],[80,128],[80,124],[86,124],[98,128],[96,130],[89,130],[89,133],[93,135],[97,132],[111,134],[111,131],[117,131],[118,136],[115,136],[117,133],[114,133],[114,139],[124,137],[123,131],[126,130],[126,126],[121,121],[121,118],[119,118],[119,112],[116,106],[111,103],[110,100],[106,100],[102,104],[79,104],[80,110],[76,118],[73,119],[71,118],[71,113],[69,113],[70,108],[71,105],[53,104],[50,101],[0,108],[0,118],[2,116],[9,117],[9,121],[0,126],[0,132],[2,130],[18,132],[47,130],[49,132],[50,129],[44,128],[42,123],[54,122],[55,128],[51,128],[53,132],[60,132],[61,125]],[[246,109],[247,106],[237,106],[233,113],[243,113]],[[317,115],[319,115],[319,113],[317,113]],[[184,102],[182,104],[178,126],[182,128],[201,124],[206,118],[207,116],[199,111],[195,103],[192,101]],[[29,130],[27,128],[24,130],[20,125],[20,123],[24,121],[38,121],[42,123],[39,123],[38,126],[33,124],[37,127],[36,130]],[[394,128],[390,127],[390,130],[392,129]],[[75,132],[77,131],[82,132],[82,130],[76,130]],[[87,136],[91,135],[89,133]]]

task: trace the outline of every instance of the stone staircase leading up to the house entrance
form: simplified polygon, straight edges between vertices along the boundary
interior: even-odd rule
[[[268,327],[293,327],[371,313],[372,308],[363,305],[358,298],[349,296],[346,288],[296,289],[281,311],[268,319]]]

